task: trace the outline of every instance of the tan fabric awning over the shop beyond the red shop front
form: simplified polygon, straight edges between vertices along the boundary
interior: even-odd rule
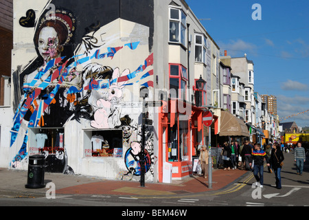
[[[221,111],[219,136],[249,137],[248,127],[244,121],[227,111]]]

